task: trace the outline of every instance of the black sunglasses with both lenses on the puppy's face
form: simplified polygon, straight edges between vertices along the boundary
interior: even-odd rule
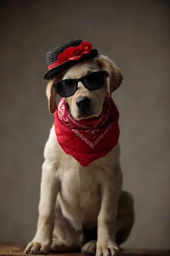
[[[59,96],[67,98],[77,91],[78,82],[82,82],[88,90],[99,90],[105,84],[105,78],[108,76],[107,71],[97,71],[83,76],[79,79],[65,79],[53,84]]]

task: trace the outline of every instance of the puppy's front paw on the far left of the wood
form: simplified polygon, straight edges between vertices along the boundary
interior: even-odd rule
[[[50,242],[30,242],[27,244],[25,253],[28,254],[48,254],[50,252]]]

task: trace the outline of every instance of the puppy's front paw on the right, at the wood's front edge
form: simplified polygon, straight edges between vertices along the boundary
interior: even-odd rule
[[[116,243],[97,246],[96,256],[120,256],[120,250]]]

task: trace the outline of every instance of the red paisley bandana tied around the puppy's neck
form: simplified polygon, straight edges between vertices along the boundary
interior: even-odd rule
[[[117,144],[119,112],[108,95],[98,117],[77,121],[68,108],[68,103],[62,98],[54,113],[58,143],[66,154],[73,156],[82,166],[88,166]]]

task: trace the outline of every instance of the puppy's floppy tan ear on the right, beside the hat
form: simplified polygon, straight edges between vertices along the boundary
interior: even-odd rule
[[[117,67],[116,64],[114,64],[107,56],[99,55],[96,60],[100,68],[108,72],[108,94],[109,97],[111,97],[111,93],[116,90],[120,84],[122,84],[122,73],[120,72],[119,67]]]

